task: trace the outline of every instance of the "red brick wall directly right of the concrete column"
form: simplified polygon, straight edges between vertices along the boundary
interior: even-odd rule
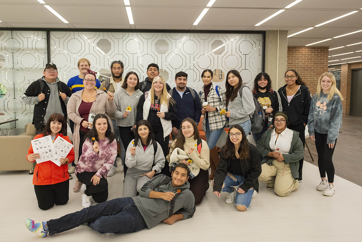
[[[328,49],[329,47],[288,46],[287,70],[296,70],[312,95],[317,91],[320,75],[328,71]]]

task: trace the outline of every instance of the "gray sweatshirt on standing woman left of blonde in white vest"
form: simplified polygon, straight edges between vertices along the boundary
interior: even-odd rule
[[[137,104],[141,95],[143,95],[143,92],[139,89],[137,89],[132,96],[127,93],[125,88],[119,88],[114,92],[113,100],[116,106],[114,117],[117,126],[129,127],[136,124]],[[131,106],[131,112],[129,116],[122,118],[128,106]]]

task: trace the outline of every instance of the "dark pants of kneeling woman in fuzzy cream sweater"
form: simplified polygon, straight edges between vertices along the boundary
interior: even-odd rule
[[[209,170],[202,170],[193,179],[189,178],[190,191],[195,197],[195,205],[202,202],[203,197],[206,195],[207,189],[209,189]]]

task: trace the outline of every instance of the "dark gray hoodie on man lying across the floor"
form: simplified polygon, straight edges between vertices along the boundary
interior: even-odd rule
[[[170,181],[167,184],[160,185],[161,191],[159,191],[157,185],[165,179],[169,179],[168,176],[163,174],[155,176],[152,180],[143,185],[141,191],[139,192],[139,196],[132,197],[144,221],[146,222],[148,229],[151,229],[153,226],[156,226],[161,221],[168,218],[168,213],[171,208],[170,201],[149,198],[151,191],[176,192],[178,189],[186,188],[178,195],[178,197],[176,197],[173,212],[176,213],[181,209],[178,213],[182,213],[184,215],[184,219],[191,218],[195,213],[195,198],[189,190],[190,183],[186,181],[186,183],[180,187],[173,187],[172,181]]]

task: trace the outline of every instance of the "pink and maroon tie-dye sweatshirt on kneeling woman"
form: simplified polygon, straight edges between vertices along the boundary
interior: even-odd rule
[[[117,156],[117,142],[115,139],[109,143],[109,139],[98,140],[99,151],[93,150],[92,140],[87,138],[83,144],[82,155],[75,167],[75,175],[83,171],[97,172],[96,176],[107,179],[107,174],[113,166],[114,159]]]

